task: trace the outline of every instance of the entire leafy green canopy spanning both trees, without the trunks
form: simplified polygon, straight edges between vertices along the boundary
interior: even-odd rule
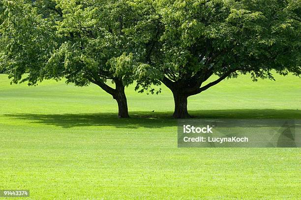
[[[211,75],[301,75],[300,0],[0,1],[0,65],[13,82],[108,79],[137,90]],[[29,75],[22,79],[22,75]],[[217,81],[218,82],[218,81]]]

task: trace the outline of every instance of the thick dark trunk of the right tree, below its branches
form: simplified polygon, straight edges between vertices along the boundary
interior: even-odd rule
[[[173,93],[175,100],[174,118],[190,118],[187,110],[187,96],[184,94]]]

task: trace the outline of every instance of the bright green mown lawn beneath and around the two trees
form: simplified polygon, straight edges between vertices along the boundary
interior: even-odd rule
[[[28,87],[0,75],[0,189],[36,200],[301,199],[300,148],[177,148],[170,91],[133,88],[131,118],[118,119],[95,85]],[[188,104],[197,118],[301,119],[301,79],[241,76]]]

